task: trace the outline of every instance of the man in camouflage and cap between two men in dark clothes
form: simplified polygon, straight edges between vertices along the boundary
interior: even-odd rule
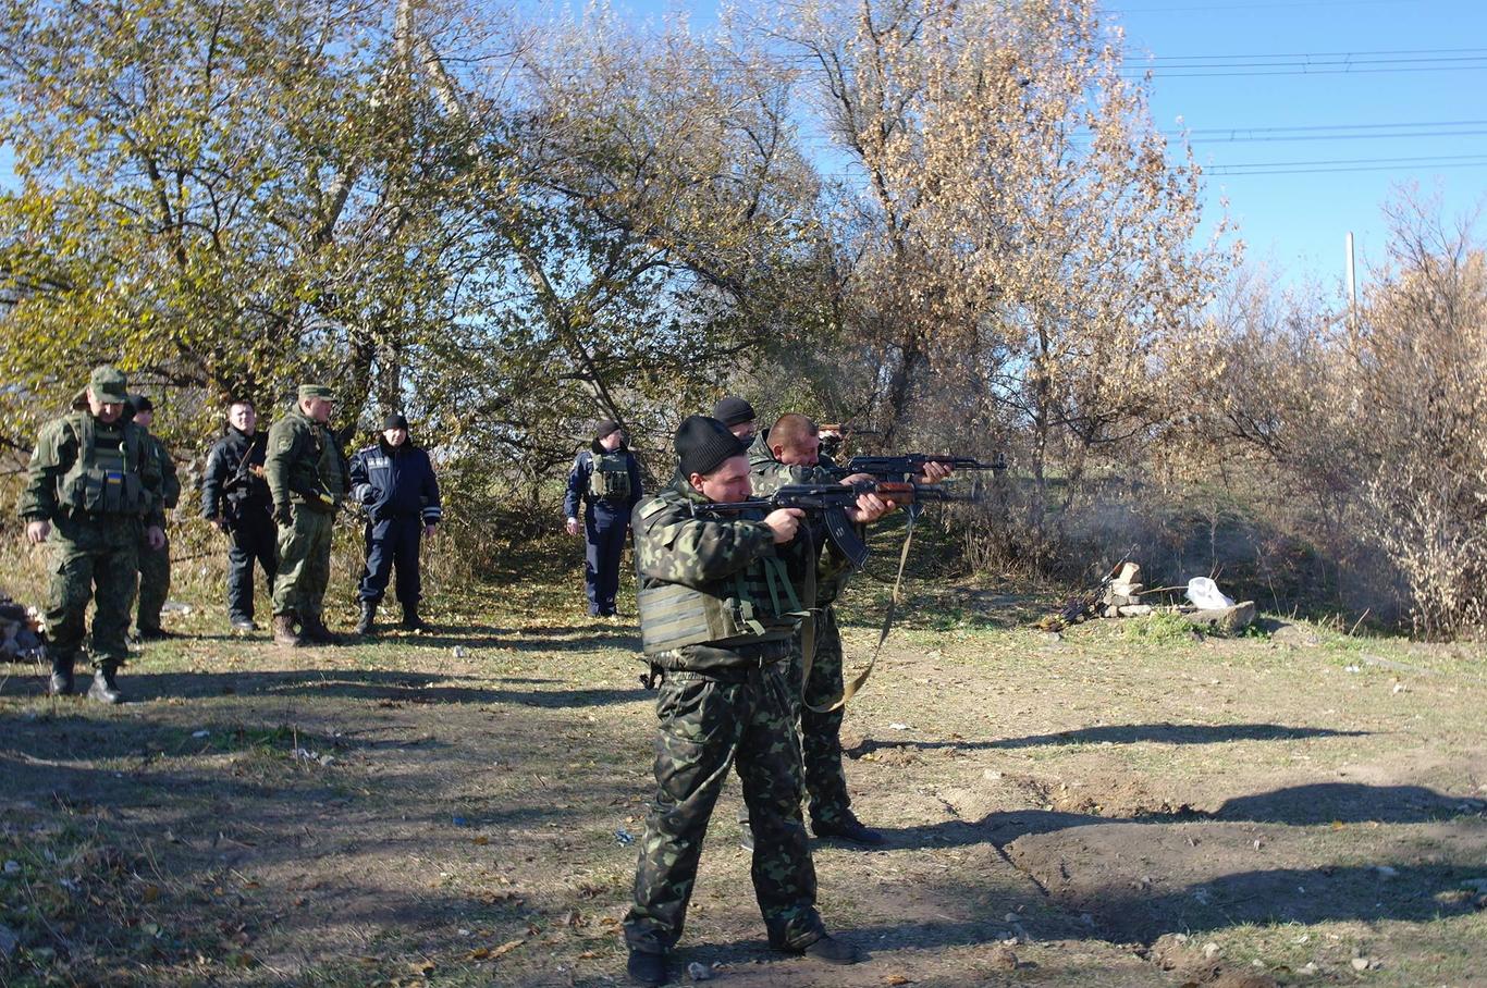
[[[321,618],[330,582],[332,529],[351,489],[346,461],[327,426],[333,407],[330,388],[300,385],[294,407],[269,429],[263,474],[278,523],[274,640],[280,645],[341,640]]]

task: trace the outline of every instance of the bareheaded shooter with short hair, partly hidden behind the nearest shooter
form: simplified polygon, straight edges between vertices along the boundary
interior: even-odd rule
[[[810,673],[801,682],[803,654],[794,649],[791,680],[800,715],[800,746],[810,793],[810,829],[816,836],[834,836],[857,844],[882,844],[883,836],[864,826],[852,813],[852,798],[842,767],[842,709],[824,712],[842,697],[842,633],[837,628],[836,600],[848,578],[867,559],[867,547],[857,526],[845,514],[825,510],[833,502],[851,504],[857,492],[845,484],[871,484],[867,472],[843,471],[821,456],[821,437],[815,422],[799,413],[787,413],[761,432],[749,447],[749,468],[758,495],[782,498],[779,502],[810,508],[807,524],[812,533],[815,566],[813,579],[806,572],[791,573],[797,590],[815,585],[815,599],[803,602],[816,608],[815,655]],[[913,471],[919,474],[920,471]],[[926,465],[923,478],[943,480],[950,474],[943,465]],[[807,486],[810,489],[807,489]],[[894,504],[903,504],[912,489],[900,490]],[[883,496],[879,496],[882,501]],[[745,828],[745,842],[748,829]]]

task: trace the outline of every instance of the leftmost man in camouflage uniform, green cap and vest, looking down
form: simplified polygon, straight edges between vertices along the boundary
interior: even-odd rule
[[[51,634],[54,694],[73,691],[88,602],[94,682],[88,695],[122,703],[114,675],[128,657],[125,633],[140,572],[140,544],[165,545],[158,462],[147,434],[125,416],[128,382],[113,367],[97,367],[73,400],[71,415],[42,426],[31,453],[21,517],[33,544],[55,547],[46,625]]]

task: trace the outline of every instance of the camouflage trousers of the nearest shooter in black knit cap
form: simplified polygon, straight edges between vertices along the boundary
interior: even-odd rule
[[[656,801],[645,820],[632,949],[662,952],[681,937],[708,819],[738,762],[754,826],[754,896],[773,946],[821,937],[816,869],[800,819],[800,747],[779,664],[739,670],[736,682],[668,672],[656,700]]]

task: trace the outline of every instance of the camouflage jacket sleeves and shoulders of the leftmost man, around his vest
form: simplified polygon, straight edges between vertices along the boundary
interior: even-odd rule
[[[67,508],[68,492],[62,487],[67,486],[67,474],[77,465],[82,435],[88,425],[85,417],[91,415],[91,412],[73,412],[42,426],[36,449],[31,450],[25,489],[21,492],[21,517],[27,521],[52,521],[64,513],[88,514]],[[94,428],[101,441],[117,444],[123,453],[125,469],[138,478],[144,492],[140,519],[146,524],[164,527],[164,480],[159,461],[149,449],[149,432],[126,419],[110,425],[95,420]]]

